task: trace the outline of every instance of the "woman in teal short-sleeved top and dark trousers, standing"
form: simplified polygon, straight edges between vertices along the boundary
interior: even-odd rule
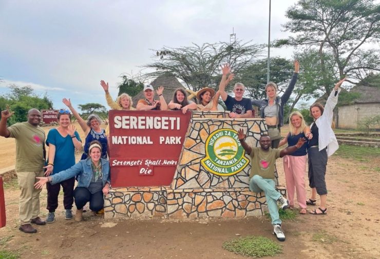
[[[48,164],[45,166],[45,176],[54,175],[59,171],[66,170],[75,164],[75,149],[81,150],[81,138],[75,126],[71,125],[71,114],[67,110],[60,110],[58,115],[59,127],[52,128],[46,138],[46,145],[49,146]],[[75,179],[67,179],[58,184],[47,184],[47,209],[49,210],[47,223],[54,222],[54,212],[58,207],[58,195],[63,188],[63,205],[65,207],[65,219],[72,219],[72,204],[74,202]]]

